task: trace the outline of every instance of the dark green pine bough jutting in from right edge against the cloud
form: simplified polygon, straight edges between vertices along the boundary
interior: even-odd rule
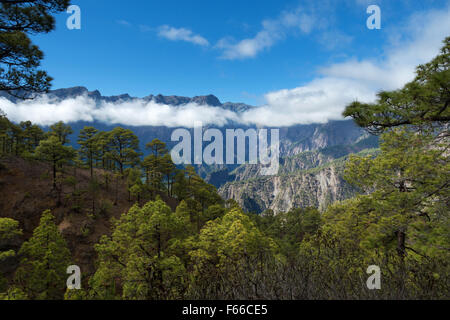
[[[404,88],[378,94],[375,104],[355,102],[344,116],[372,133],[399,126],[430,127],[450,121],[450,37],[441,54],[417,68],[416,79]]]

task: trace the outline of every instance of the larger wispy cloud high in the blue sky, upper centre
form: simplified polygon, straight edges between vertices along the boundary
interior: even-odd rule
[[[253,58],[264,49],[272,47],[285,38],[292,30],[309,34],[315,25],[313,15],[297,8],[292,12],[283,12],[277,19],[264,20],[262,30],[253,38],[234,41],[232,38],[222,38],[216,47],[223,50],[222,58],[228,60]]]

